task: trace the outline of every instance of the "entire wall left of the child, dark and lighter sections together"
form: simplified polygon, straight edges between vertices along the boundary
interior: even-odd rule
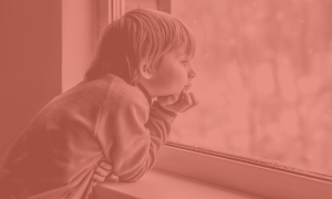
[[[48,102],[82,81],[101,1],[0,1],[0,156]]]

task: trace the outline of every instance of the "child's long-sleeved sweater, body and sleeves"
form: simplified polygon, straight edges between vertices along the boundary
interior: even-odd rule
[[[154,166],[175,117],[113,74],[83,81],[43,107],[7,150],[0,191],[13,185],[17,198],[85,199],[103,158],[121,181],[135,181]]]

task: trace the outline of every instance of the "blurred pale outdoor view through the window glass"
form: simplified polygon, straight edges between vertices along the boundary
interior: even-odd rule
[[[200,102],[170,140],[332,175],[331,10],[329,0],[170,1],[197,39]]]

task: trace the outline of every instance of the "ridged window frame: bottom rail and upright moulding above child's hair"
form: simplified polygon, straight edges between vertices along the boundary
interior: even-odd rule
[[[108,4],[108,22],[124,14],[125,0],[102,1]],[[332,198],[331,176],[176,143],[162,148],[154,168],[263,198]]]

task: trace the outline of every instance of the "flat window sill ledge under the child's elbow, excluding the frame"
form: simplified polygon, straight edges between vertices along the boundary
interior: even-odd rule
[[[262,199],[245,192],[153,169],[136,182],[111,178],[94,189],[95,199]]]

